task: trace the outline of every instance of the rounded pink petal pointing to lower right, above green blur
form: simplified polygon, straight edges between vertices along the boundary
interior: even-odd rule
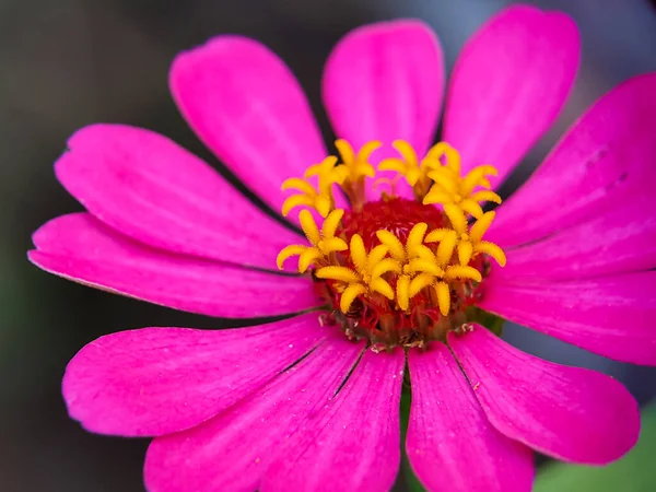
[[[605,465],[633,447],[637,402],[616,379],[524,353],[475,325],[448,343],[490,422],[555,458]]]

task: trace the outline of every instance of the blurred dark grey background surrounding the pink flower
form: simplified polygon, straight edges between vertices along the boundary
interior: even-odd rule
[[[465,39],[509,3],[0,0],[0,491],[143,490],[148,442],[86,434],[70,421],[60,396],[66,364],[86,342],[120,329],[222,326],[221,320],[66,282],[27,262],[30,236],[40,224],[81,210],[52,173],[75,129],[96,121],[147,127],[220,166],[178,115],[168,95],[167,70],[176,52],[215,34],[238,33],[260,39],[286,60],[332,139],[319,82],[323,62],[341,35],[363,23],[417,16],[438,33],[450,68]],[[560,9],[575,19],[583,66],[558,124],[504,194],[526,178],[588,104],[617,83],[656,70],[655,2],[525,3]],[[656,394],[654,368],[609,362],[516,326],[506,326],[504,338],[546,359],[611,374],[642,403]],[[641,472],[652,479],[655,473],[653,466]],[[626,477],[626,483],[632,480],[639,479]],[[632,490],[656,490],[641,483]]]

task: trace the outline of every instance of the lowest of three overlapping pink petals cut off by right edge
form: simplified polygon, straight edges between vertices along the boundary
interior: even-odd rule
[[[583,349],[656,365],[656,271],[554,283],[494,269],[479,306]]]

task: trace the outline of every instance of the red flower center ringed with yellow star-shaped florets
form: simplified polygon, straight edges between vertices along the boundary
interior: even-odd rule
[[[397,197],[393,180],[391,194],[367,202],[365,178],[375,177],[368,159],[379,145],[370,142],[355,153],[338,140],[341,162],[329,156],[304,178],[283,183],[282,189],[298,191],[285,200],[283,214],[305,208],[298,219],[309,246],[285,247],[278,266],[298,256],[298,271],[312,273],[327,302],[327,319],[348,337],[366,338],[373,348],[423,345],[462,330],[489,258],[505,265],[503,250],[482,239],[494,212],[483,213],[480,203],[501,202],[487,177],[496,169],[482,165],[461,176],[460,156],[448,144],[437,143],[420,162],[407,142],[395,141],[400,157],[382,161],[378,169],[396,171],[415,199]],[[335,208],[336,186],[351,210]],[[307,209],[324,218],[320,229]]]

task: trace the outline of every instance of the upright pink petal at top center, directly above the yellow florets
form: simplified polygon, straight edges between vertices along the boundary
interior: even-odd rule
[[[432,142],[444,94],[442,48],[420,21],[383,22],[359,27],[341,39],[326,62],[324,102],[339,138],[355,148],[379,140],[373,161],[397,156],[389,144],[410,142],[423,156]],[[382,172],[377,177],[394,177]],[[368,183],[368,197],[379,190]],[[403,180],[398,191],[412,197]]]

